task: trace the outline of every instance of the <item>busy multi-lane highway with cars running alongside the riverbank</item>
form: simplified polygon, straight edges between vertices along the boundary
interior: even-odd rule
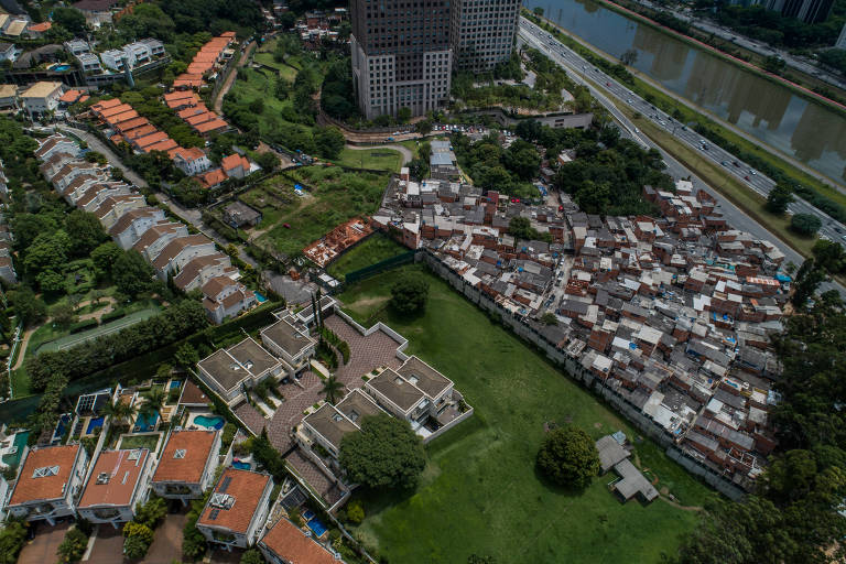
[[[527,44],[540,50],[554,62],[565,67],[577,82],[587,85],[594,97],[606,106],[611,115],[623,124],[623,129],[626,129],[629,134],[628,137],[638,140],[641,144],[652,145],[652,143],[644,141],[644,135],[641,135],[636,126],[626,119],[622,112],[617,110],[615,104],[611,104],[604,93],[616,98],[617,104],[627,105],[633,111],[640,112],[643,116],[643,119],[649,119],[663,128],[679,142],[692,147],[703,159],[708,159],[723,166],[727,176],[735,176],[738,181],[749,186],[750,189],[753,189],[761,196],[767,197],[770,189],[776,186],[776,182],[773,182],[772,178],[736,159],[731,153],[715,145],[684,123],[675,120],[672,116],[657,109],[647,100],[632,93],[625,85],[620,84],[611,76],[606,75],[601,69],[595,68],[587,61],[554,39],[550,33],[524,18],[520,19],[520,37]],[[599,85],[604,93],[599,91],[590,83]],[[823,227],[820,229],[820,235],[846,246],[846,226],[836,221],[827,214],[816,209],[804,199],[796,198],[796,200],[789,206],[788,212],[790,214],[812,214],[820,217],[823,223]]]

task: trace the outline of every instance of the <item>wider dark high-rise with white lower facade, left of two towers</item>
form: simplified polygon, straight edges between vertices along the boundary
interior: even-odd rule
[[[351,0],[352,83],[367,119],[449,97],[449,0]]]

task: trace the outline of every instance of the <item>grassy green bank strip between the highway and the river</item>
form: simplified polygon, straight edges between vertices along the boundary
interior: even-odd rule
[[[541,25],[547,32],[553,33],[558,41],[588,61],[605,59],[612,64],[620,64],[616,57],[588,44],[550,20],[545,18],[539,19],[525,10],[523,15]],[[657,108],[660,108],[683,123],[693,124],[697,131],[702,129],[699,132],[703,137],[736,154],[738,159],[756,166],[773,180],[783,180],[791,184],[801,185],[805,188],[805,192],[812,192],[812,195],[815,195],[817,198],[831,202],[831,204],[839,208],[840,215],[846,215],[846,189],[843,189],[831,178],[774,148],[762,145],[760,140],[726,123],[692,101],[666,90],[651,78],[642,74],[637,76],[630,74],[630,76],[631,80],[625,80],[627,86]],[[798,192],[802,192],[802,189]],[[812,198],[805,197],[805,199]],[[821,207],[817,205],[817,202],[811,203],[815,207]],[[842,220],[840,217],[833,214],[829,209],[824,210]]]

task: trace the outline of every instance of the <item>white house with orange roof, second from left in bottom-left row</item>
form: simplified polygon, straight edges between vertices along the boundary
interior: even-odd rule
[[[77,513],[116,529],[118,523],[131,521],[135,508],[148,498],[152,466],[153,456],[147,448],[101,451],[88,473]]]

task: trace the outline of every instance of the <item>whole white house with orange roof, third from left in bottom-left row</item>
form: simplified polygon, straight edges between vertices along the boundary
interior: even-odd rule
[[[215,477],[219,451],[219,431],[171,431],[153,474],[153,491],[183,503],[203,497]]]

